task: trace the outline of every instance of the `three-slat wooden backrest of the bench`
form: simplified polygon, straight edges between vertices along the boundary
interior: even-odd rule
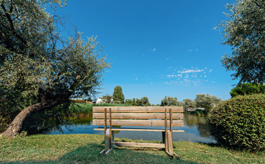
[[[93,107],[93,125],[105,125],[105,110],[112,126],[165,126],[165,115],[168,126],[170,115],[172,126],[183,126],[183,107]]]

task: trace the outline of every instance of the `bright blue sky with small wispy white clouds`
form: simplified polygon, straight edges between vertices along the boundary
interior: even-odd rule
[[[160,104],[165,96],[178,100],[209,93],[230,98],[233,81],[221,64],[231,47],[220,44],[214,27],[227,17],[223,0],[78,0],[57,14],[97,36],[111,68],[104,72],[102,96],[122,87],[125,98],[147,96]]]

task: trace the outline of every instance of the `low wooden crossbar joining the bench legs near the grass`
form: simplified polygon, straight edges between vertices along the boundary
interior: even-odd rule
[[[141,147],[141,148],[165,148],[164,143],[136,143],[136,142],[119,142],[113,141],[115,146]]]

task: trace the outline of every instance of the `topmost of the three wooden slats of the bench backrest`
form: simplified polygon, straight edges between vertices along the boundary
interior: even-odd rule
[[[155,112],[165,112],[165,108],[172,112],[183,113],[183,107],[93,107],[93,113],[104,112],[104,108],[111,108],[111,112],[129,112],[129,113],[155,113]]]

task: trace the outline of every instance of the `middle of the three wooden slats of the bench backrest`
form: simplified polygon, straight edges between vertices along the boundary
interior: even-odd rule
[[[109,113],[106,113],[109,118]],[[93,113],[93,119],[104,118],[104,113]],[[164,113],[113,113],[111,112],[112,119],[164,119]],[[170,119],[170,115],[168,115]],[[172,119],[183,119],[183,113],[173,113]]]

